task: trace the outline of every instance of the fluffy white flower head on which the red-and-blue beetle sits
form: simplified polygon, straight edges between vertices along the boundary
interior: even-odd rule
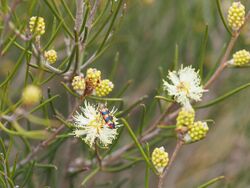
[[[109,116],[112,117],[115,127],[110,128],[100,113],[101,106],[101,104],[91,105],[85,102],[84,107],[81,108],[81,113],[77,112],[73,116],[76,128],[74,130],[75,136],[83,139],[91,148],[93,148],[95,141],[105,147],[112,144],[118,135],[117,128],[121,126],[114,116],[116,109],[113,108],[109,111]]]

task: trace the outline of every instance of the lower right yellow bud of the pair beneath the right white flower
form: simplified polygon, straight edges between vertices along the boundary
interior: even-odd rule
[[[185,143],[199,141],[206,137],[209,128],[206,122],[197,121],[189,126],[189,130],[184,136]]]

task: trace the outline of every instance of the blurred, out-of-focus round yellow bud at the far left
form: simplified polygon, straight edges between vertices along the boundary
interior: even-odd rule
[[[22,93],[22,102],[25,105],[32,106],[37,104],[42,97],[42,91],[38,86],[28,85]]]

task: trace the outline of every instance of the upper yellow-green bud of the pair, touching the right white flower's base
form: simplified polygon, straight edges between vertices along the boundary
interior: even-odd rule
[[[189,126],[194,123],[195,112],[193,109],[182,108],[176,118],[176,127]]]

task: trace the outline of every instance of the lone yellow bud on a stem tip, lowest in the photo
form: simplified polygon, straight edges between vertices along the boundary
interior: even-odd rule
[[[159,173],[162,173],[164,168],[168,165],[168,153],[165,152],[164,147],[155,148],[152,153],[152,163]]]

